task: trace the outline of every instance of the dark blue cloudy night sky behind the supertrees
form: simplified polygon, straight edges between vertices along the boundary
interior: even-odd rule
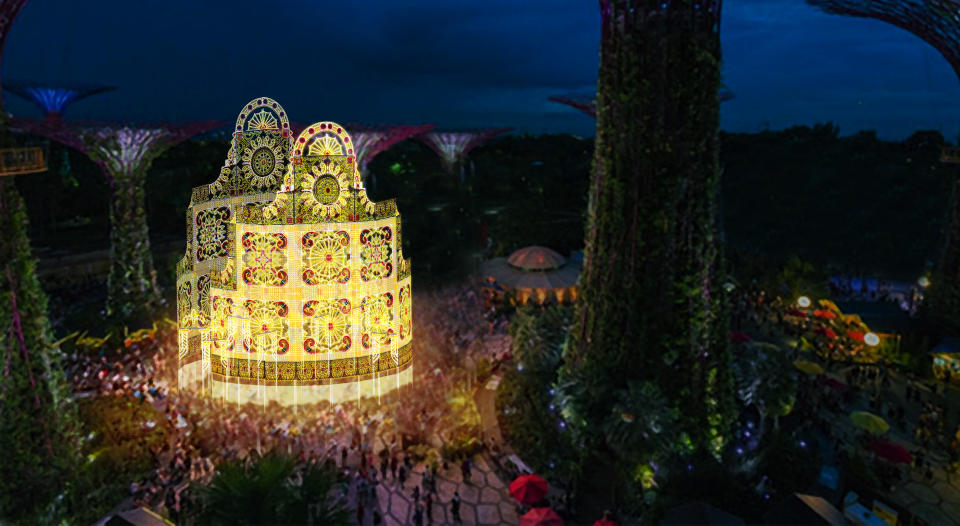
[[[3,76],[117,86],[68,119],[232,121],[266,95],[295,121],[589,136],[591,118],[546,99],[595,91],[599,22],[592,0],[31,0]],[[727,0],[722,39],[736,93],[722,107],[725,130],[833,121],[841,134],[890,139],[960,132],[953,71],[901,29],[803,0]],[[4,100],[15,115],[39,115]]]

